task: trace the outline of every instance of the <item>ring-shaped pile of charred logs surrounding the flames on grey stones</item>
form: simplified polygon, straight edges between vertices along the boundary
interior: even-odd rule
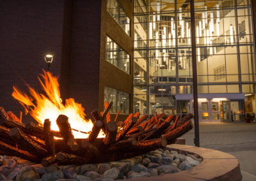
[[[56,123],[60,131],[51,130],[51,120],[42,124],[22,124],[12,113],[0,107],[0,154],[17,156],[44,166],[49,164],[86,164],[115,161],[144,154],[175,143],[176,139],[193,128],[192,114],[179,119],[164,113],[148,118],[131,113],[124,122],[111,120],[113,103],[105,103],[105,112],[92,112],[93,128],[88,138],[76,139],[66,115]],[[100,130],[105,138],[97,138]],[[61,139],[55,139],[58,137]]]

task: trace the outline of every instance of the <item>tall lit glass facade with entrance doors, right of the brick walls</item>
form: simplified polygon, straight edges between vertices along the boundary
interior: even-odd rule
[[[255,121],[253,4],[196,0],[200,122]],[[189,1],[134,1],[134,112],[193,112]]]

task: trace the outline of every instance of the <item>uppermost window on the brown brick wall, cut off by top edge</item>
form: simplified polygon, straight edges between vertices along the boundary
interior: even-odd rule
[[[131,36],[131,20],[123,10],[122,6],[116,0],[108,0],[107,11],[124,29],[125,33]]]

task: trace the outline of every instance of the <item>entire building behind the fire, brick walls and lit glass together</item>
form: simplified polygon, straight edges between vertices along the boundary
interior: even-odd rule
[[[200,122],[255,120],[252,3],[195,1]],[[0,10],[4,109],[23,110],[13,86],[42,90],[37,76],[51,53],[61,98],[74,98],[88,117],[103,111],[104,101],[113,101],[120,120],[130,112],[193,112],[188,0],[12,0]]]

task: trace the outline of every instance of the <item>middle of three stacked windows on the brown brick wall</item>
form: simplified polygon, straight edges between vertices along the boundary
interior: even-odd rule
[[[111,38],[106,38],[106,61],[130,74],[130,55]]]

